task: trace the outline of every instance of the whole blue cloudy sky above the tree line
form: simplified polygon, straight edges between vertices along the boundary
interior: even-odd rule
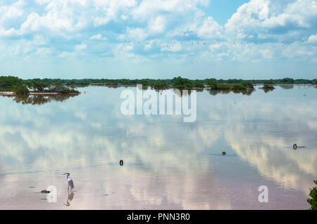
[[[317,1],[0,1],[0,75],[317,78]]]

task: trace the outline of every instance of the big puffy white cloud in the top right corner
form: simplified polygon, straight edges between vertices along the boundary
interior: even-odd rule
[[[225,29],[228,34],[238,38],[257,38],[261,35],[279,39],[290,34],[293,38],[299,38],[301,32],[307,32],[307,28],[316,30],[316,20],[316,1],[251,0],[237,9],[237,13],[225,24]]]

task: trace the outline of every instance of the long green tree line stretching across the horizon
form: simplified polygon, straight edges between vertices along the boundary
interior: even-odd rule
[[[173,79],[20,79],[13,76],[1,76],[0,88],[19,93],[27,91],[46,91],[51,86],[132,86],[143,84],[153,88],[204,88],[214,90],[246,91],[254,89],[254,84],[317,84],[317,79],[186,79],[180,76]],[[63,89],[65,93],[72,92],[72,88]]]

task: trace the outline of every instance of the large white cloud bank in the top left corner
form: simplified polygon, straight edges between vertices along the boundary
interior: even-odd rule
[[[21,0],[11,6],[2,6],[0,13],[6,13],[1,13],[0,18],[4,20],[27,13],[26,20],[21,23],[19,29],[15,30],[15,34],[41,32],[46,29],[54,34],[62,35],[79,31],[92,24],[99,26],[110,20],[116,20],[119,13],[126,12],[128,8],[136,4],[134,0],[38,0],[36,2],[41,6],[39,11],[33,11],[32,4],[25,4]],[[24,11],[20,9],[22,6],[25,6]]]

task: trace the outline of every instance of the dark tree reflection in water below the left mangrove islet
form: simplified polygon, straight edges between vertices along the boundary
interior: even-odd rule
[[[52,101],[63,102],[68,98],[74,97],[78,94],[58,94],[58,95],[6,95],[7,97],[13,97],[16,103],[43,105]]]

